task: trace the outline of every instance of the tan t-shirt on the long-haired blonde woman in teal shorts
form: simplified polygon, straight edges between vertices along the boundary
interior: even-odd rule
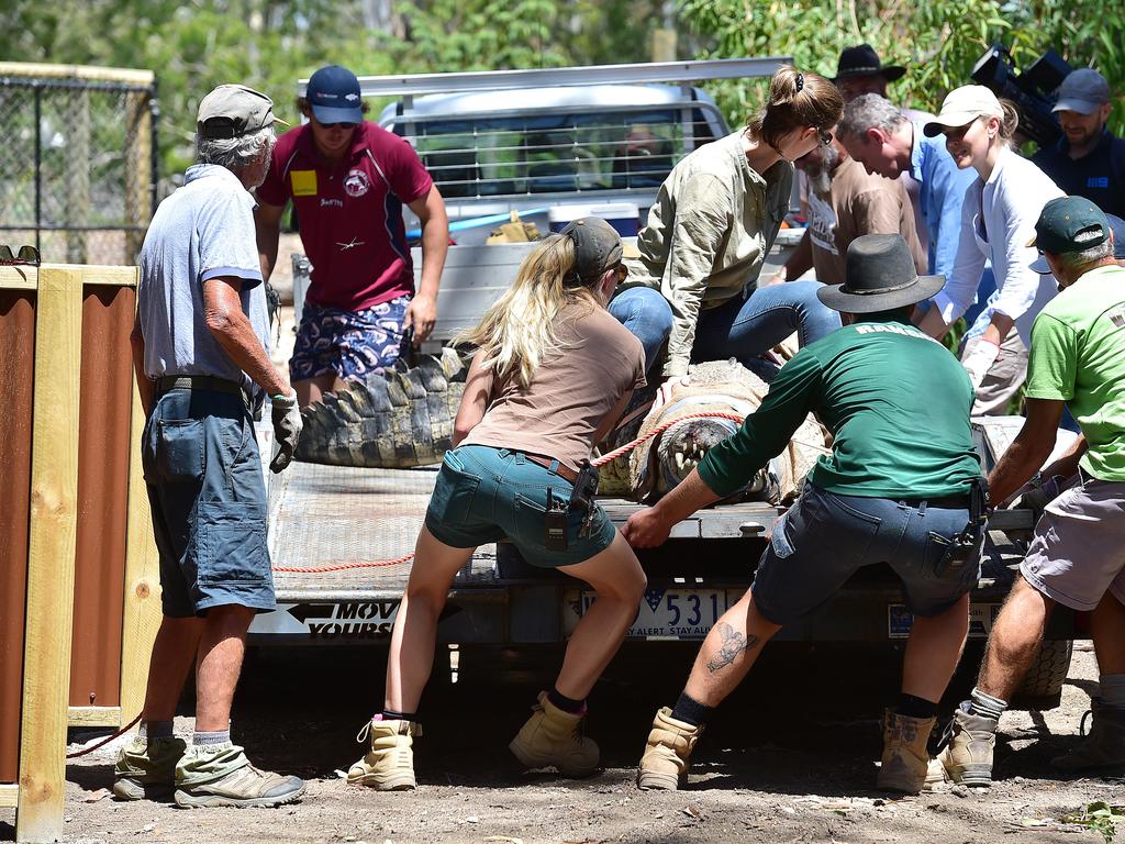
[[[558,316],[558,353],[547,356],[528,389],[495,384],[484,419],[465,446],[554,457],[572,469],[590,457],[594,433],[629,390],[645,385],[645,349],[609,312],[568,305]]]

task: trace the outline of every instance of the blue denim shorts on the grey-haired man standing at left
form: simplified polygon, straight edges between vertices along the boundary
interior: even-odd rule
[[[241,395],[172,389],[142,441],[164,614],[212,607],[276,609],[266,547],[266,485]]]

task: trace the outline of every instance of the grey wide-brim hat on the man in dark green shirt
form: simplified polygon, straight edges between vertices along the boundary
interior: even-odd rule
[[[847,248],[843,285],[826,285],[817,298],[832,311],[871,314],[930,298],[945,276],[919,276],[901,234],[864,234]]]

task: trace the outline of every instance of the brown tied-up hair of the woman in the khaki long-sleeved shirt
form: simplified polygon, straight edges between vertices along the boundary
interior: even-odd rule
[[[817,73],[802,73],[790,64],[774,71],[770,96],[746,125],[755,141],[781,151],[782,138],[794,129],[814,126],[828,131],[844,115],[844,98]]]

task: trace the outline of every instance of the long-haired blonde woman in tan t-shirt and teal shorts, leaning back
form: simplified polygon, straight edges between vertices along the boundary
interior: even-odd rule
[[[624,272],[616,232],[583,217],[542,241],[508,291],[461,338],[478,351],[454,422],[457,448],[438,475],[395,618],[385,708],[369,725],[371,751],[352,765],[349,782],[414,788],[415,713],[441,610],[477,546],[504,539],[531,565],[558,568],[597,593],[570,635],[554,688],[539,694],[508,747],[525,766],[554,766],[566,776],[597,766],[597,745],[579,729],[585,699],[646,586],[629,544],[583,483],[594,443],[645,384],[640,342],[605,311]]]

